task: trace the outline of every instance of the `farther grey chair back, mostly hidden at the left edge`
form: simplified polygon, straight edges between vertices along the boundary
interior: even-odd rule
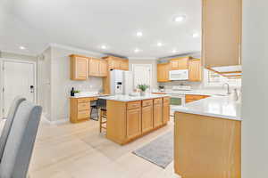
[[[0,137],[0,162],[4,154],[4,147],[8,138],[8,135],[10,133],[10,129],[13,125],[13,119],[15,116],[15,113],[17,112],[18,107],[20,106],[22,101],[25,101],[25,98],[22,98],[21,96],[17,96],[11,105],[11,107],[8,110],[8,115],[6,117],[4,128]]]

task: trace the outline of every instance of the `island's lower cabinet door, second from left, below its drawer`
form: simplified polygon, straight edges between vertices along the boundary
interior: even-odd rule
[[[142,108],[142,133],[145,133],[154,128],[154,110],[153,106]]]

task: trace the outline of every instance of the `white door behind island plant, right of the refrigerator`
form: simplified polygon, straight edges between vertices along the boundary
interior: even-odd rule
[[[133,64],[133,77],[134,87],[138,85],[149,85],[151,90],[152,87],[152,65],[151,64]]]

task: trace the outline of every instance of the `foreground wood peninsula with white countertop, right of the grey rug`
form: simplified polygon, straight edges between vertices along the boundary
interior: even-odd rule
[[[241,177],[240,103],[212,96],[175,109],[174,169],[182,178]]]

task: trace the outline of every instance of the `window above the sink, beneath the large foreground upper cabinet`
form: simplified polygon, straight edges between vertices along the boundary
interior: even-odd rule
[[[228,78],[222,77],[221,75],[215,73],[214,71],[205,69],[206,85],[207,86],[217,86],[228,83],[231,86],[241,86],[241,78]]]

